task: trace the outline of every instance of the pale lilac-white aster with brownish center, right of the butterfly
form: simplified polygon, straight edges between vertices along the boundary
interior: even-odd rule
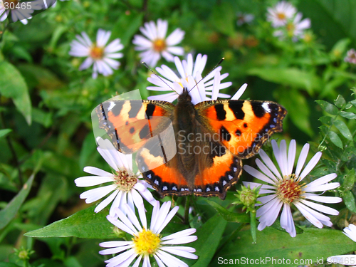
[[[259,217],[260,221],[258,230],[261,231],[266,226],[271,226],[274,221],[276,221],[279,211],[281,211],[283,206],[281,226],[283,229],[286,229],[290,236],[294,237],[296,233],[292,212],[290,211],[291,204],[293,204],[300,211],[300,213],[303,214],[303,216],[305,216],[305,218],[316,227],[323,228],[323,224],[326,226],[332,226],[333,224],[331,223],[330,218],[318,211],[330,215],[337,215],[339,214],[339,211],[328,206],[317,204],[313,201],[338,203],[342,201],[342,199],[340,197],[323,197],[320,196],[320,194],[314,194],[313,192],[325,192],[339,187],[340,184],[338,182],[328,183],[335,179],[337,175],[335,173],[328,174],[316,179],[313,182],[310,182],[309,184],[302,182],[305,176],[318,163],[321,157],[321,152],[317,152],[303,169],[303,165],[305,164],[305,159],[308,156],[309,151],[309,144],[305,144],[300,152],[295,172],[293,172],[296,150],[295,140],[290,141],[288,155],[286,140],[281,141],[280,148],[278,148],[277,142],[272,140],[272,147],[279,169],[281,169],[281,173],[278,172],[278,169],[273,164],[272,160],[263,150],[260,150],[259,155],[261,156],[264,164],[260,159],[256,159],[256,164],[258,168],[261,169],[261,172],[251,166],[244,166],[245,171],[253,177],[268,183],[268,185],[262,184],[259,191],[259,194],[268,195],[257,199],[262,202],[262,206],[256,213],[256,217]],[[251,188],[261,185],[258,183],[250,184]],[[313,201],[308,201],[306,199]]]

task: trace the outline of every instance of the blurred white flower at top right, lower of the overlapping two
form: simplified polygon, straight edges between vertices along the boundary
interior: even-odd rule
[[[298,41],[298,39],[303,38],[304,31],[310,28],[311,23],[310,19],[303,19],[303,21],[301,21],[302,17],[303,15],[301,13],[296,14],[293,21],[288,21],[286,24],[286,30],[279,29],[275,31],[273,35],[281,38],[288,36],[292,38],[293,41]]]

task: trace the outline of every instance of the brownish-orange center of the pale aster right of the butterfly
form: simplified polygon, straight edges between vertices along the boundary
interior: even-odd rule
[[[286,204],[298,201],[300,194],[303,193],[302,187],[304,185],[305,183],[299,184],[298,179],[295,179],[295,174],[292,174],[291,177],[283,177],[283,181],[278,184],[277,188],[278,198]]]

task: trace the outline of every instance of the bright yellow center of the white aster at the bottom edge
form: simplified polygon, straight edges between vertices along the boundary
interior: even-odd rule
[[[132,241],[134,242],[136,253],[142,256],[153,255],[161,243],[159,234],[153,234],[151,230],[146,230],[145,228],[138,233],[138,236],[132,238]]]

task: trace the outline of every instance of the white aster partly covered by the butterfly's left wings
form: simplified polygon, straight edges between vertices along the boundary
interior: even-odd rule
[[[110,215],[114,215],[115,208],[122,209],[125,204],[129,204],[131,209],[135,206],[143,204],[144,197],[151,204],[155,203],[151,192],[147,189],[147,182],[140,180],[142,176],[132,172],[132,155],[125,155],[117,150],[112,143],[105,139],[98,137],[99,144],[98,152],[112,167],[112,173],[106,172],[103,169],[96,167],[85,167],[84,172],[93,174],[94,176],[79,177],[74,180],[77,187],[93,187],[99,184],[110,183],[109,185],[90,189],[80,194],[80,199],[85,199],[86,203],[92,203],[108,195],[95,208],[95,212],[99,212],[108,206],[112,201],[110,207]],[[142,195],[142,197],[141,197]]]

